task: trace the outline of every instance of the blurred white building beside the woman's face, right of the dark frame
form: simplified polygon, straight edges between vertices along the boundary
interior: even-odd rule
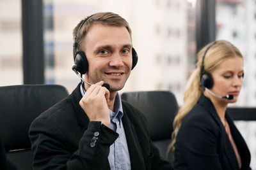
[[[256,1],[218,1],[216,25],[216,39],[226,39],[232,42],[244,55],[244,82],[236,105],[255,106]]]

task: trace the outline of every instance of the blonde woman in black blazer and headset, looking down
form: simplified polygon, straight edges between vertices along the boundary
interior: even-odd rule
[[[214,41],[198,53],[173,122],[175,169],[251,169],[250,151],[227,113],[243,75],[243,55],[228,41]]]

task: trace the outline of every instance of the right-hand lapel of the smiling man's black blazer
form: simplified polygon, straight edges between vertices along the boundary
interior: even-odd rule
[[[143,164],[144,159],[141,153],[140,143],[138,141],[136,131],[131,123],[131,120],[129,120],[127,117],[125,110],[124,116],[122,117],[122,123],[124,125],[125,136],[131,159],[131,169],[145,169],[145,165]]]

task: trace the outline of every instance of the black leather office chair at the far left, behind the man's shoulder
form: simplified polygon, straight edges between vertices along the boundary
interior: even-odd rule
[[[0,87],[0,138],[6,157],[18,170],[32,168],[28,130],[43,111],[68,96],[61,85],[13,85]]]

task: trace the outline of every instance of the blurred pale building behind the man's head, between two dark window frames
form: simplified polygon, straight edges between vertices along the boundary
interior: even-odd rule
[[[120,14],[132,29],[139,61],[122,92],[171,90],[182,103],[186,80],[195,67],[195,8],[187,1],[45,0],[47,83],[74,89],[79,80],[71,70],[72,29],[79,20],[99,11]]]

